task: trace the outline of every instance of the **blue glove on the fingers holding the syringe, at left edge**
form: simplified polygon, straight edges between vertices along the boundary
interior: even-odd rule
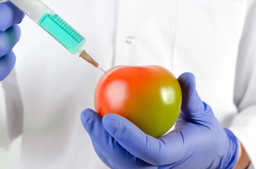
[[[0,3],[0,81],[12,71],[16,57],[12,48],[20,40],[20,23],[24,14],[9,1]]]

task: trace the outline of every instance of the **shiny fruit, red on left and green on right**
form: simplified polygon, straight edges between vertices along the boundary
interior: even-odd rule
[[[94,95],[101,117],[115,113],[152,137],[175,124],[182,93],[177,78],[161,66],[115,66],[102,74]]]

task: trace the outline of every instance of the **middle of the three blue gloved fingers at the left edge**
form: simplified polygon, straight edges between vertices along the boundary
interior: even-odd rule
[[[9,53],[19,40],[20,27],[18,25],[0,32],[0,57]]]

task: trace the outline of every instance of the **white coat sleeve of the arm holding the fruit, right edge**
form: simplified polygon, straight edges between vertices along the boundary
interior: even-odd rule
[[[249,169],[256,169],[256,3],[247,12],[239,44],[234,101],[239,113],[230,130],[249,155]]]

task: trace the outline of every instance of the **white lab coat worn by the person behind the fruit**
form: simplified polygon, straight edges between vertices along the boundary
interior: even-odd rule
[[[247,0],[44,2],[87,38],[86,51],[105,70],[154,64],[177,77],[195,74],[202,100],[241,140],[254,169],[255,5],[245,22]],[[23,136],[19,169],[107,169],[80,120],[83,109],[94,108],[102,71],[28,17],[20,27],[15,70],[0,85],[0,146]]]

